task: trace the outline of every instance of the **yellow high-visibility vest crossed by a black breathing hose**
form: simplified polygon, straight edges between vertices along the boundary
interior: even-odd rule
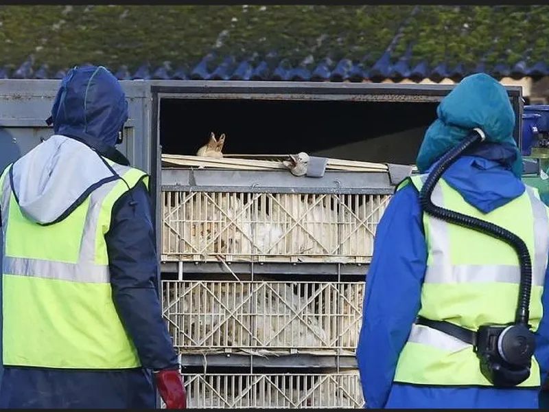
[[[411,181],[421,190],[426,177],[414,176]],[[527,186],[522,196],[484,215],[465,203],[458,192],[441,179],[432,193],[432,202],[491,221],[517,236],[522,234],[532,256],[530,325],[537,330],[549,254],[549,209],[539,201],[537,191]],[[520,281],[515,251],[501,240],[470,233],[471,229],[427,214],[423,215],[423,226],[428,243],[428,267],[419,314],[469,330],[476,330],[482,323],[512,322]],[[480,373],[479,361],[471,345],[423,325],[412,326],[408,342],[399,356],[395,381],[419,385],[491,386]],[[539,366],[533,358],[530,378],[519,386],[537,387],[539,383]]]

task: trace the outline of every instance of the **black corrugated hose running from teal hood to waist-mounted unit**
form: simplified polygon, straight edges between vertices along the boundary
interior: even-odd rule
[[[515,314],[515,323],[525,325],[528,328],[528,319],[530,317],[530,311],[528,308],[530,305],[530,291],[532,288],[532,262],[530,261],[528,247],[526,247],[523,240],[514,233],[511,233],[498,225],[493,225],[492,223],[474,218],[472,216],[460,214],[457,211],[444,209],[443,207],[434,205],[431,201],[431,194],[434,190],[434,186],[436,185],[436,182],[441,179],[441,176],[447,168],[449,168],[449,166],[452,165],[452,163],[454,163],[454,161],[456,161],[458,157],[460,157],[460,155],[467,150],[467,148],[482,140],[484,140],[484,133],[482,130],[475,129],[475,132],[467,137],[467,139],[452,148],[452,150],[449,150],[449,152],[441,158],[439,164],[436,165],[436,168],[430,172],[427,180],[423,184],[421,192],[419,192],[419,203],[421,204],[423,211],[427,212],[431,216],[434,216],[435,218],[466,227],[467,229],[473,229],[480,231],[481,233],[489,234],[494,238],[503,240],[515,249],[520,265],[519,299],[517,312]]]

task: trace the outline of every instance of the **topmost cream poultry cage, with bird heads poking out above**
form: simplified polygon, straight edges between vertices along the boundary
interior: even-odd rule
[[[329,159],[314,179],[266,158],[163,156],[163,262],[368,263],[411,168]]]

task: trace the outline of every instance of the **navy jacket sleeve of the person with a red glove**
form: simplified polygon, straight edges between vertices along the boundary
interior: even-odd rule
[[[105,238],[113,299],[141,364],[153,370],[176,367],[177,355],[162,319],[156,236],[150,195],[144,183],[140,182],[115,203]]]

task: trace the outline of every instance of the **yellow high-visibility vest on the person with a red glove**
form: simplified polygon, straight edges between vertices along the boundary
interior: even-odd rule
[[[117,199],[148,181],[141,170],[108,163],[124,181],[98,187],[65,220],[45,227],[23,217],[9,167],[2,174],[4,365],[141,365],[112,299],[104,235]]]

